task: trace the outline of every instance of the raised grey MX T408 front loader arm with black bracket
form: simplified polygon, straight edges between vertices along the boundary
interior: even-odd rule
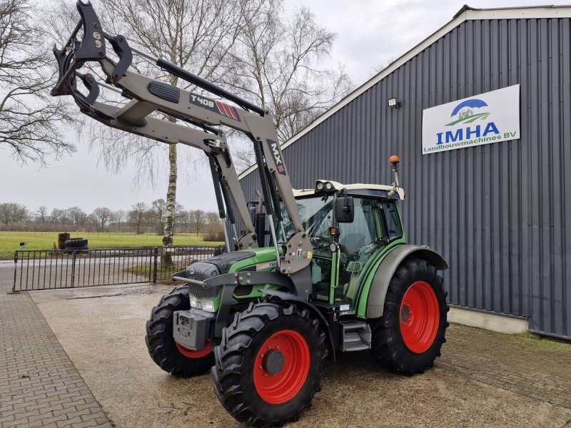
[[[233,202],[245,228],[246,235],[236,237],[238,248],[256,246],[256,235],[226,137],[221,130],[213,126],[228,126],[246,134],[253,142],[256,153],[264,205],[276,248],[276,269],[284,274],[293,274],[307,267],[312,258],[313,247],[303,230],[271,114],[173,63],[132,49],[124,36],[106,34],[101,29],[101,23],[89,1],[84,3],[78,0],[77,9],[81,20],[69,40],[62,49],[54,46],[54,55],[59,63],[59,80],[51,90],[51,95],[73,96],[82,113],[106,126],[163,143],[182,143],[204,151],[210,159],[221,217],[224,218],[226,215],[223,208],[225,203],[228,218],[233,223],[231,210]],[[81,29],[83,36],[78,39]],[[106,56],[106,42],[113,48],[118,61]],[[226,98],[237,106],[128,71],[133,53],[155,63],[163,71],[178,76],[204,91]],[[79,71],[86,62],[98,63],[101,66],[107,76],[106,83],[118,88],[121,95],[129,100],[124,106],[117,107],[96,101],[100,83],[91,74]],[[87,95],[77,89],[78,81],[88,89]],[[178,125],[168,118],[159,118],[158,115],[153,115],[157,111],[202,130]],[[292,235],[283,237],[281,254],[273,223],[275,217],[281,225],[281,232],[284,233],[280,200],[295,231]]]

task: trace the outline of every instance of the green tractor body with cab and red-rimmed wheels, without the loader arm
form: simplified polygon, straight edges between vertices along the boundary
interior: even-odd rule
[[[448,327],[438,275],[448,265],[406,243],[402,189],[318,180],[294,195],[313,245],[305,282],[251,279],[276,269],[272,247],[218,255],[174,275],[187,285],[165,295],[147,322],[159,367],[178,376],[212,367],[218,399],[253,425],[298,418],[336,352],[370,350],[388,370],[422,373]]]

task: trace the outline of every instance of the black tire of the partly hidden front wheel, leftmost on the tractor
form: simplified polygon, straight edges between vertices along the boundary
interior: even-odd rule
[[[148,355],[158,367],[178,377],[203,374],[214,365],[214,353],[199,358],[188,358],[181,354],[173,338],[173,312],[189,310],[188,287],[175,287],[161,297],[158,305],[151,310],[151,319],[147,321]]]

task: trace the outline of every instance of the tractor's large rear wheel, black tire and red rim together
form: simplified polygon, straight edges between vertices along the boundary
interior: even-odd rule
[[[390,280],[383,317],[369,321],[375,360],[409,375],[433,367],[446,342],[446,294],[433,265],[420,259],[402,263]]]

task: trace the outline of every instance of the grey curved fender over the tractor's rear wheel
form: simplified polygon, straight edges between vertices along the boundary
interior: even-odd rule
[[[367,318],[380,318],[383,316],[385,308],[385,297],[387,295],[388,285],[393,278],[395,271],[400,263],[406,258],[420,258],[436,267],[437,270],[446,270],[449,268],[444,258],[431,250],[428,245],[398,245],[385,255],[380,263],[377,272],[373,276],[370,284],[368,296],[361,296],[367,299]]]

